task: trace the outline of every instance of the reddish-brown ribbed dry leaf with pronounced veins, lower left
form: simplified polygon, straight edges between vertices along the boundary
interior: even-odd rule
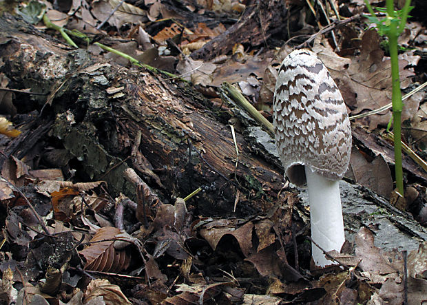
[[[103,227],[96,231],[89,246],[79,251],[86,259],[84,269],[92,271],[119,272],[127,269],[130,255],[125,250],[117,251],[114,248],[116,235],[121,231],[114,227]]]

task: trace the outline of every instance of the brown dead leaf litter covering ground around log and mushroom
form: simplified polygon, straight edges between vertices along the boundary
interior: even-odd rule
[[[73,0],[69,6],[56,3],[56,7],[44,2],[52,21],[61,26],[67,24],[70,30],[99,34],[96,25],[106,21],[108,32],[102,34],[111,36],[112,48],[147,65],[177,72],[202,93],[207,92],[203,87],[215,90],[225,81],[236,83],[265,116],[271,114],[277,66],[292,50],[289,44],[280,50],[262,50],[233,41],[238,51],[221,54],[225,56],[221,59],[196,61],[189,57],[207,41],[226,32],[225,24],[242,12],[246,2],[184,1],[185,8],[174,12],[169,1],[127,1],[114,14],[112,10],[119,2],[116,0]],[[307,17],[310,12],[304,1],[286,2],[288,8],[300,9],[299,16],[291,16],[298,25],[291,26],[290,32],[313,34],[317,24]],[[343,15],[363,10],[364,2],[360,0],[340,6]],[[228,23],[217,21],[213,25],[208,11],[217,17],[229,14],[228,20],[222,19]],[[203,22],[185,22],[183,14],[189,12],[198,14]],[[410,21],[400,38],[399,43],[406,48],[419,51],[400,54],[403,90],[426,81],[425,75],[423,78],[417,72],[419,54],[426,50],[425,26]],[[375,30],[361,27],[362,23],[356,23],[340,28],[339,52],[326,35],[317,35],[312,46],[340,87],[349,114],[353,115],[390,102],[390,61],[381,47],[381,37]],[[94,56],[101,54],[108,61],[129,65],[120,56],[96,48],[90,50]],[[6,87],[10,80],[1,75],[2,86]],[[118,88],[109,90],[110,94],[120,94]],[[215,105],[216,96],[208,97]],[[12,94],[1,92],[0,100],[6,114],[16,114]],[[424,100],[425,91],[411,96],[405,102],[403,114],[406,141],[421,156],[426,156]],[[388,169],[393,166],[393,159],[383,153],[384,144],[377,133],[387,125],[390,114],[386,110],[355,121],[362,132],[357,136],[357,147],[353,147],[348,172],[349,178],[384,198],[390,198],[393,191],[393,177]],[[3,125],[3,134],[17,136],[8,120],[4,119]],[[65,160],[64,165],[70,159]],[[417,208],[407,205],[406,209],[425,224],[422,213],[426,213],[426,173],[416,172],[410,165],[405,169],[408,176],[413,175],[420,182],[411,186],[415,190],[413,198],[407,198],[409,203],[417,202]],[[6,302],[402,304],[406,297],[408,304],[426,302],[427,242],[422,239],[419,248],[408,253],[383,250],[375,246],[373,231],[362,227],[347,254],[331,253],[342,262],[342,268],[335,273],[311,272],[307,264],[309,247],[301,242],[306,222],[303,215],[293,212],[299,204],[295,193],[283,191],[278,204],[265,215],[249,219],[206,218],[187,211],[186,202],[180,198],[175,204],[163,203],[148,185],[140,189],[136,202],[125,196],[114,201],[108,197],[103,182],[64,182],[61,172],[62,169],[42,172],[37,163],[26,164],[15,157],[3,164],[0,198],[3,210],[7,211],[3,235],[8,247],[0,253],[0,293]],[[146,172],[161,185],[152,169]],[[17,191],[18,187],[34,204],[33,209]],[[119,205],[123,209],[119,210]],[[415,213],[416,210],[419,211]],[[44,237],[36,214],[47,227]],[[134,226],[129,235],[123,228],[129,228],[132,222],[139,226]],[[43,293],[45,284],[37,284],[39,280],[47,283],[54,271],[61,272],[61,295],[57,291],[52,295]],[[112,284],[101,278],[90,280],[92,275],[118,276],[112,277],[116,283]]]

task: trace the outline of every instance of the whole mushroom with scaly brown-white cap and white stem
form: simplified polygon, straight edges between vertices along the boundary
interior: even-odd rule
[[[273,126],[285,175],[308,188],[313,262],[334,264],[314,242],[340,251],[345,241],[338,182],[350,161],[351,127],[340,90],[315,53],[295,50],[280,65]]]

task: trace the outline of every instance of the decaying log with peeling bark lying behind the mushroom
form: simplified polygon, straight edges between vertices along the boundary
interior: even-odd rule
[[[237,111],[233,107],[225,112],[185,83],[94,59],[14,17],[0,17],[0,45],[0,72],[10,78],[9,87],[50,94],[25,103],[35,102],[34,109],[40,111],[49,102],[33,124],[41,118],[54,120],[48,135],[59,141],[56,149],[68,151],[81,178],[105,180],[113,196],[134,198],[135,186],[124,174],[132,167],[160,200],[171,203],[202,187],[203,192],[187,202],[198,215],[244,217],[266,212],[277,202],[283,186],[280,162],[271,137],[251,126],[251,118],[239,117],[236,167],[227,126]],[[347,238],[356,227],[375,223],[373,231],[393,226],[404,236],[390,247],[427,240],[426,229],[408,214],[398,213],[384,200],[364,200],[369,209],[362,209],[355,197],[363,198],[364,190],[346,187],[344,223],[353,226]],[[352,199],[346,200],[351,192]],[[299,210],[301,216],[308,215],[305,212]]]

